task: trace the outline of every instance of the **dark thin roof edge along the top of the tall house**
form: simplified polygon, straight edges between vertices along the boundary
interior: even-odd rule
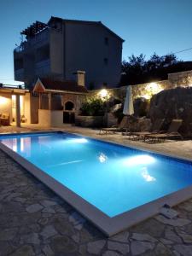
[[[108,26],[105,26],[104,24],[102,24],[102,21],[90,21],[90,20],[67,20],[67,19],[61,19],[59,17],[54,17],[51,16],[51,18],[48,21],[48,25],[51,21],[53,20],[58,20],[61,22],[73,22],[73,23],[86,23],[86,24],[90,24],[90,25],[96,25],[96,26],[102,26],[104,29],[107,29],[109,33],[113,34],[114,37],[119,38],[120,41],[125,42],[124,39],[120,38],[115,32],[113,32],[112,30],[110,30],[108,28]]]

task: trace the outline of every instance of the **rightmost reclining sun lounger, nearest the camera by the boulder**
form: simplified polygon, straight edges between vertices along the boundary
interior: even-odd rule
[[[162,133],[146,135],[145,138],[151,140],[151,142],[153,143],[165,141],[166,139],[172,138],[180,138],[183,140],[182,135],[178,132],[178,129],[181,127],[182,122],[182,119],[172,119],[172,123],[166,132],[162,131]]]

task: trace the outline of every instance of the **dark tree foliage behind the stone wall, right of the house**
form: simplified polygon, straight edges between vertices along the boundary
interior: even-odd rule
[[[128,61],[122,62],[122,72],[119,85],[143,84],[167,79],[168,73],[192,69],[192,62],[177,60],[174,54],[159,56],[156,53],[145,60],[145,55],[131,55]]]

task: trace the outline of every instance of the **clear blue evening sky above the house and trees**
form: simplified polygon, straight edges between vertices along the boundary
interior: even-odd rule
[[[0,82],[14,84],[13,49],[20,32],[51,15],[101,20],[125,39],[123,59],[192,48],[192,0],[0,0]],[[192,61],[192,49],[177,57]]]

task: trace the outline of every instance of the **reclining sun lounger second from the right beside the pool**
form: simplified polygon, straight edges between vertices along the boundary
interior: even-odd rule
[[[144,139],[147,135],[160,133],[160,129],[164,123],[165,119],[156,119],[154,124],[151,125],[151,129],[148,131],[134,131],[130,133],[130,139],[137,137],[138,139]]]

